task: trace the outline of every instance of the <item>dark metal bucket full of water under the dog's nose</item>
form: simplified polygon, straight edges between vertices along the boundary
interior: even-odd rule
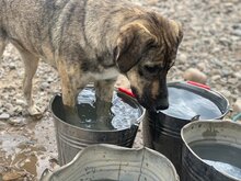
[[[229,111],[229,103],[225,97],[215,92],[205,90],[186,82],[170,82],[168,83],[169,97],[170,100],[170,110],[156,112],[147,112],[147,118],[144,121],[144,144],[149,148],[160,151],[164,156],[167,156],[175,166],[176,171],[181,176],[182,173],[182,139],[181,139],[181,129],[183,126],[192,122],[192,117],[196,114],[200,114],[202,112],[198,110],[199,108],[205,108],[207,105],[199,106],[198,102],[206,99],[208,103],[216,106],[216,111],[218,114],[208,114],[202,117],[208,118],[222,118]],[[170,89],[172,88],[172,89]],[[183,93],[186,97],[183,98]],[[175,95],[171,95],[171,93],[176,93]],[[191,99],[191,93],[195,94],[195,101],[188,100]],[[193,97],[192,95],[192,97]],[[185,101],[185,100],[188,101]],[[175,102],[176,100],[176,102]],[[175,104],[172,108],[171,104]],[[188,104],[188,109],[187,105]],[[177,105],[181,105],[180,108]],[[209,106],[208,106],[209,108]],[[193,110],[192,110],[193,109]],[[217,110],[218,109],[218,110]],[[205,110],[207,110],[205,108]],[[219,111],[220,110],[220,111]],[[167,112],[168,111],[168,112]],[[210,117],[210,115],[213,117]],[[168,143],[168,144],[167,144]]]

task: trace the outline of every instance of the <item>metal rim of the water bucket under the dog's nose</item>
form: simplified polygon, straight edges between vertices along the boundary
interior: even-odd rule
[[[230,106],[230,103],[228,101],[227,98],[225,98],[225,95],[222,95],[221,93],[219,93],[218,91],[216,90],[207,90],[205,88],[202,88],[202,87],[197,87],[197,86],[194,86],[194,84],[191,84],[188,83],[187,81],[171,81],[171,82],[168,82],[168,88],[169,87],[176,87],[176,86],[184,86],[184,87],[190,87],[190,88],[196,88],[196,89],[200,89],[203,91],[206,91],[208,93],[211,93],[211,94],[217,94],[218,97],[220,97],[222,100],[225,100],[225,102],[227,103],[227,106],[226,106],[226,110],[223,112],[221,112],[221,115],[220,116],[217,116],[217,117],[213,117],[213,118],[205,118],[205,120],[198,120],[198,121],[211,121],[211,120],[221,120],[222,117],[225,117],[231,110],[231,106]],[[213,102],[213,101],[211,101]],[[158,113],[162,113],[162,114],[165,114],[168,115],[169,117],[172,117],[172,118],[176,118],[179,121],[186,121],[186,122],[193,122],[192,120],[187,120],[187,118],[182,118],[182,117],[175,117],[173,115],[170,115],[170,114],[167,114],[167,113],[163,113],[162,110],[158,111]]]

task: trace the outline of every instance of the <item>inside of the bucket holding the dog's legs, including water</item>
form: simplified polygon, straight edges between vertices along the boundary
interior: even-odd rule
[[[85,89],[93,89],[93,87],[87,87]],[[84,89],[84,90],[85,90]],[[87,97],[87,95],[85,95]],[[95,98],[95,95],[92,95]],[[80,100],[81,102],[82,100]],[[92,101],[92,100],[91,100]],[[95,101],[95,100],[94,100]],[[79,100],[78,100],[79,102]],[[95,102],[94,102],[95,103]],[[90,105],[89,103],[83,103],[83,104],[77,104],[77,113],[69,114],[68,112],[66,112],[65,106],[62,104],[62,100],[61,100],[61,95],[56,95],[50,103],[50,109],[51,112],[54,114],[54,116],[56,118],[58,118],[61,122],[65,122],[66,124],[70,124],[80,128],[84,128],[84,129],[95,129],[95,131],[108,131],[108,129],[125,129],[125,128],[129,128],[131,125],[138,125],[140,123],[140,121],[142,120],[144,116],[144,108],[139,105],[139,103],[130,98],[129,95],[119,92],[119,91],[114,91],[113,92],[113,101],[112,101],[112,110],[114,110],[114,105],[116,105],[115,108],[119,109],[117,111],[115,111],[112,115],[114,115],[114,117],[108,118],[110,121],[110,125],[111,126],[95,126],[96,123],[102,123],[99,122],[96,113],[95,113],[95,108],[93,108],[92,105]],[[120,105],[119,104],[125,104],[128,105],[129,109],[129,114],[126,113],[126,110],[120,110]],[[119,106],[119,108],[118,108]],[[125,115],[122,115],[125,114]],[[107,115],[111,116],[111,115]],[[83,118],[82,118],[83,117]],[[117,118],[116,118],[117,117]],[[85,120],[84,120],[85,118]],[[83,121],[84,120],[84,121]]]

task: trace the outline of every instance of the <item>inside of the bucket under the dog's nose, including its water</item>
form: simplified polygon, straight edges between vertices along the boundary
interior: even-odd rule
[[[184,82],[168,84],[170,108],[163,114],[181,118],[217,120],[229,111],[228,100],[218,92]]]

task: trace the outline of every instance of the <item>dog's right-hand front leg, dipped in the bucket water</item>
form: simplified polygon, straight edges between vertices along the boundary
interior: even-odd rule
[[[112,97],[114,90],[115,80],[99,80],[94,83],[95,97],[96,97],[96,115],[97,121],[102,122],[102,125],[107,128],[112,128],[111,125],[111,108]]]

